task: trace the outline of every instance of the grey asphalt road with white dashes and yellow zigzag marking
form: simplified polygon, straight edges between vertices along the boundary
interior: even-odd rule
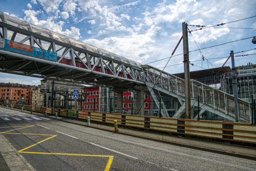
[[[0,132],[37,171],[256,171],[256,162],[0,108]]]

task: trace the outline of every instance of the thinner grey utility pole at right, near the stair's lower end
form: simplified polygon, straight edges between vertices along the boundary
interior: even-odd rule
[[[238,119],[238,106],[237,106],[237,84],[236,84],[236,67],[235,67],[235,59],[234,59],[234,51],[231,51],[231,62],[232,62],[232,80],[233,80],[233,93],[235,99],[235,116],[236,122],[239,122]]]

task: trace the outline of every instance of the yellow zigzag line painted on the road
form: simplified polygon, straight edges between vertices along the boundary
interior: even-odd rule
[[[29,127],[34,127],[34,126],[16,126],[16,127],[23,127],[23,128],[29,128]],[[10,128],[10,127],[0,127],[0,128]],[[12,128],[12,127],[11,127]],[[18,129],[22,129],[22,128],[18,128]],[[22,150],[19,150],[20,153],[31,153],[31,154],[51,154],[51,155],[75,155],[75,156],[91,156],[91,157],[108,157],[108,162],[107,165],[105,167],[104,171],[109,171],[111,164],[113,162],[114,156],[111,155],[89,155],[89,154],[70,154],[70,153],[50,153],[50,152],[29,152],[29,151],[24,151],[27,149],[30,149],[31,147],[34,147],[46,140],[49,140],[53,137],[56,137],[57,135],[49,135],[49,134],[34,134],[34,133],[10,133],[10,131],[14,131],[14,130],[18,130],[18,129],[13,129],[13,130],[8,130],[5,132],[1,132],[1,133],[8,133],[8,134],[26,134],[26,135],[46,135],[46,136],[51,136],[49,138],[46,138],[45,140],[42,140],[36,144],[33,144],[32,146],[29,146],[27,148],[24,148]],[[33,137],[29,137],[29,138],[33,138]]]

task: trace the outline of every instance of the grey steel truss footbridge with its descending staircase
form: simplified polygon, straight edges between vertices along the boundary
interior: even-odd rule
[[[141,65],[1,12],[0,38],[58,53],[57,62],[53,62],[0,49],[0,72],[114,88],[134,89],[146,85],[149,91],[153,89],[151,94],[162,116],[169,117],[162,100],[159,106],[161,96],[178,99],[181,107],[174,117],[184,113],[184,80],[166,72],[160,76],[161,70],[150,65]],[[201,115],[210,108],[223,118],[235,118],[234,109],[228,107],[228,103],[234,101],[233,96],[195,80],[191,80],[190,85],[191,104],[196,106],[200,96]],[[216,96],[219,98],[215,99]],[[241,120],[250,121],[250,104],[240,99],[238,103]]]

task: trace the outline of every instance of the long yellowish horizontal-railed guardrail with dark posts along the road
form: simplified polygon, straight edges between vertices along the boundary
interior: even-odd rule
[[[8,105],[8,108],[11,108],[11,104],[3,105]],[[2,103],[0,103],[0,106],[2,106]],[[21,109],[21,105],[12,106],[13,108]],[[23,105],[23,110],[30,111],[31,108],[33,111],[40,113],[44,113],[46,110],[48,114],[54,115],[57,112],[57,114],[60,116],[72,118],[75,114],[75,117],[79,119],[87,119],[87,116],[90,116],[91,121],[99,123],[114,124],[114,120],[117,120],[118,126],[143,128],[193,137],[211,138],[213,140],[240,142],[241,144],[256,144],[256,125],[248,123],[159,118],[155,116],[90,112],[84,110],[81,111]]]

